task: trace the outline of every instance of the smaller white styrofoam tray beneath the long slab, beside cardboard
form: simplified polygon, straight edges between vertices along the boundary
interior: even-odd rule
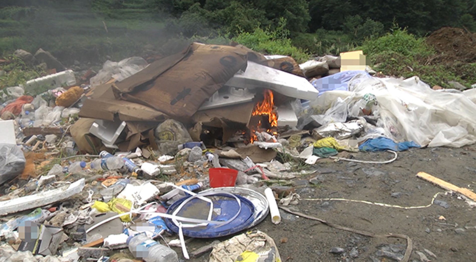
[[[255,94],[249,92],[247,88],[223,87],[213,94],[208,100],[203,102],[198,110],[205,110],[217,107],[225,107],[250,102]]]

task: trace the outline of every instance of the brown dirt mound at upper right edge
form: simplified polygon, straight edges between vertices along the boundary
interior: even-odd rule
[[[465,29],[441,28],[433,32],[426,43],[440,53],[437,60],[441,62],[476,62],[476,34]]]

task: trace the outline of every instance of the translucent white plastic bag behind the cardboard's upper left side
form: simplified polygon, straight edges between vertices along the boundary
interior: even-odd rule
[[[119,62],[107,60],[99,73],[89,81],[93,87],[105,84],[111,78],[122,81],[144,69],[147,65],[147,61],[140,57],[126,58]]]

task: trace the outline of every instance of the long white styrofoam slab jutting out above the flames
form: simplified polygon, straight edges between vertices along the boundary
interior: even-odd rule
[[[239,71],[225,86],[268,88],[288,97],[314,100],[319,91],[306,78],[248,61],[245,72]]]

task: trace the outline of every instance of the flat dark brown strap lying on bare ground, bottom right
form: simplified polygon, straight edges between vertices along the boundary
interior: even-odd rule
[[[367,231],[357,230],[357,229],[341,226],[341,225],[338,225],[338,224],[335,224],[335,223],[327,222],[327,221],[325,221],[323,219],[320,219],[320,218],[317,218],[315,216],[311,216],[311,215],[307,215],[307,214],[299,213],[299,212],[294,212],[294,211],[291,211],[287,207],[284,207],[284,206],[279,206],[279,208],[288,212],[288,213],[294,214],[294,215],[298,215],[298,216],[305,217],[307,219],[319,221],[320,223],[323,223],[323,224],[325,224],[327,226],[330,226],[332,228],[345,230],[345,231],[356,233],[356,234],[363,235],[363,236],[368,236],[368,237],[392,237],[392,238],[406,239],[407,240],[407,250],[405,251],[405,255],[403,256],[403,259],[400,262],[408,262],[410,260],[410,255],[411,255],[412,250],[413,250],[413,241],[407,235],[404,235],[404,234],[374,234],[374,233],[370,233],[370,232],[367,232]]]

